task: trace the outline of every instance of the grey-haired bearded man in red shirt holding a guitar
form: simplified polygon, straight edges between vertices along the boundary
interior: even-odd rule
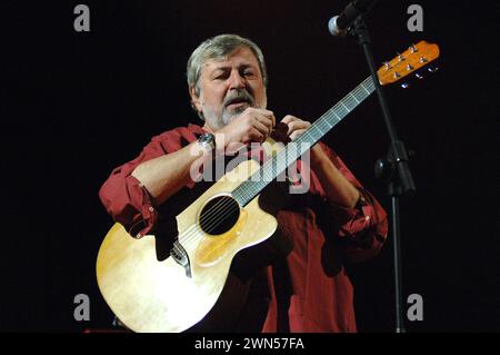
[[[189,125],[154,137],[142,152],[114,169],[100,198],[131,236],[167,235],[173,217],[208,187],[196,181],[192,165],[263,142],[277,128],[292,141],[310,122],[292,115],[277,120],[267,108],[264,59],[249,39],[221,34],[202,42],[187,68],[191,105],[203,126]],[[214,154],[216,152],[216,154]],[[387,216],[342,160],[326,145],[310,149],[307,194],[290,196],[277,214],[289,248],[243,258],[256,268],[236,277],[238,309],[223,331],[356,332],[347,260],[373,257],[387,237]],[[177,229],[173,229],[177,230]],[[252,248],[250,248],[252,249]],[[272,248],[271,248],[272,249]],[[254,263],[262,257],[262,263]],[[258,267],[256,266],[258,265]],[[241,274],[242,275],[242,274]],[[232,317],[229,317],[229,314]]]

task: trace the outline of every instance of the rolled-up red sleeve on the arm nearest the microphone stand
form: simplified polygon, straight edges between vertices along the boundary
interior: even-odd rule
[[[337,221],[337,238],[349,262],[362,262],[376,256],[388,234],[387,214],[379,201],[366,190],[337,154],[323,146],[343,176],[359,190],[354,208],[327,201],[328,214]]]

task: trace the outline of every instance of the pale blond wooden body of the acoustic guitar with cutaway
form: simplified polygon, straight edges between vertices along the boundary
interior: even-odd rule
[[[200,216],[210,201],[228,198],[258,169],[253,160],[241,162],[177,216],[190,275],[171,256],[158,260],[154,236],[134,239],[120,224],[109,230],[99,249],[97,279],[106,302],[128,328],[182,332],[210,312],[224,287],[234,255],[268,239],[278,223],[259,206],[259,196],[239,210],[222,234],[203,231]],[[218,205],[222,205],[220,200],[212,210]]]

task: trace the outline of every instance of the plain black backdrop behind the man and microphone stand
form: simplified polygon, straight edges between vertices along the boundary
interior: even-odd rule
[[[262,48],[269,108],[314,120],[368,76],[353,39],[332,38],[347,1],[86,1],[90,32],[76,32],[77,1],[2,1],[0,331],[110,327],[94,262],[112,225],[98,189],[151,136],[198,122],[186,62],[206,38],[232,32]],[[379,1],[369,19],[379,62],[411,42],[441,48],[440,70],[409,90],[387,88],[396,126],[417,151],[418,195],[402,201],[403,294],[423,297],[409,332],[500,331],[497,1]],[[374,160],[388,137],[376,97],[326,141],[389,211]],[[358,326],[392,332],[392,243],[353,265]],[[90,322],[73,319],[87,294]]]

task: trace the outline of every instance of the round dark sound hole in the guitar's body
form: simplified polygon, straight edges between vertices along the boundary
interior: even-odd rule
[[[204,205],[200,214],[201,229],[211,235],[220,235],[234,226],[240,217],[240,206],[230,196],[219,196]]]

